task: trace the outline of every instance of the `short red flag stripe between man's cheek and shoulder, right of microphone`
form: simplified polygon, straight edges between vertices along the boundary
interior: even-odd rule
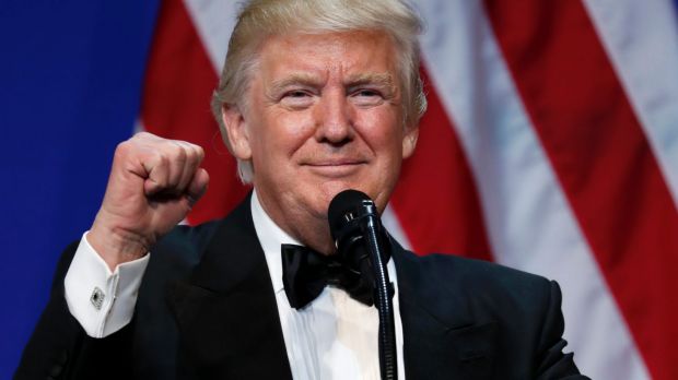
[[[422,71],[425,83],[431,83]],[[431,85],[414,154],[390,203],[413,250],[491,260],[478,192],[452,122]]]

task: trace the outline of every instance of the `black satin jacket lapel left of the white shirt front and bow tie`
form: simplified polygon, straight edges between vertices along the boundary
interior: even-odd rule
[[[249,198],[222,222],[170,300],[180,336],[178,378],[292,378]]]

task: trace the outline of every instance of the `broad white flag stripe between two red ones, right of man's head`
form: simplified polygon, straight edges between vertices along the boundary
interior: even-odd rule
[[[647,370],[556,179],[478,1],[420,1],[426,67],[478,182],[500,263],[557,280],[565,337],[594,379]]]

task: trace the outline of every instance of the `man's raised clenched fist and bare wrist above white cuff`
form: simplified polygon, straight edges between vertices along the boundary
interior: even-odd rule
[[[198,145],[141,132],[118,145],[87,240],[112,271],[144,256],[207,190]]]

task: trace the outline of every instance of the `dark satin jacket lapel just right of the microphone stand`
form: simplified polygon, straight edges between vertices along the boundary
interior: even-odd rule
[[[454,270],[423,264],[397,244],[394,260],[406,378],[491,378],[496,323],[476,320],[463,289],[447,290],[455,289]]]

